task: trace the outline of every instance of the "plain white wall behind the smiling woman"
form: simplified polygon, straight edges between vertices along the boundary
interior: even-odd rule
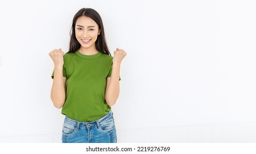
[[[256,122],[254,1],[1,1],[0,141],[61,132],[48,52],[68,50],[83,7],[100,13],[110,50],[128,53],[113,106],[120,141],[136,142],[124,134],[141,129]]]

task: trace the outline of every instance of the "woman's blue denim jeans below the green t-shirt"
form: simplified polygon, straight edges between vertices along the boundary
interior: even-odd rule
[[[65,117],[62,129],[63,143],[116,143],[113,112],[94,122],[78,122]]]

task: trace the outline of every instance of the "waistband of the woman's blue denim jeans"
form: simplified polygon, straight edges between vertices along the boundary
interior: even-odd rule
[[[69,123],[69,124],[72,124],[72,125],[75,125],[75,126],[80,127],[80,128],[97,127],[97,126],[99,126],[99,123],[104,122],[105,119],[107,119],[108,117],[111,117],[112,115],[113,115],[113,112],[110,111],[104,117],[102,117],[98,120],[92,121],[92,122],[78,122],[77,120],[70,119],[66,116],[65,117],[65,122]]]

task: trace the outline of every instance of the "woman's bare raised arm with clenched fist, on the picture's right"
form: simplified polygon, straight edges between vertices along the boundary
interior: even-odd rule
[[[122,49],[118,49],[114,52],[113,65],[111,77],[106,79],[106,91],[105,91],[105,100],[107,105],[115,105],[117,98],[119,96],[119,76],[120,76],[120,67],[123,58],[126,56],[126,52]]]

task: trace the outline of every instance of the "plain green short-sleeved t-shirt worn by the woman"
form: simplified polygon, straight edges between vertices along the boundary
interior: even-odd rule
[[[87,56],[76,51],[64,54],[63,58],[67,92],[61,113],[78,122],[104,117],[111,110],[105,101],[105,89],[113,57],[102,52]]]

